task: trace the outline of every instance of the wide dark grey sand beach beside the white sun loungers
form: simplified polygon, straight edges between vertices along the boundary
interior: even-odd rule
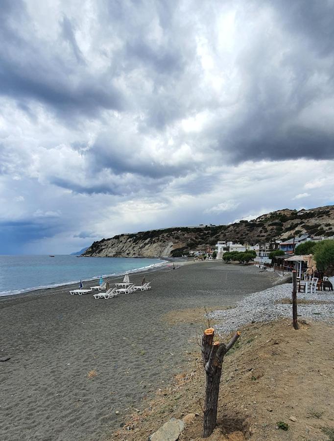
[[[167,313],[232,306],[270,287],[271,277],[253,266],[200,262],[148,272],[151,291],[108,300],[72,296],[70,286],[0,298],[0,357],[11,357],[0,363],[0,439],[110,437],[193,349],[193,325],[172,324]]]

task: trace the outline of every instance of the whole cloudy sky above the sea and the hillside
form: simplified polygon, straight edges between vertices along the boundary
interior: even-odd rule
[[[0,254],[334,203],[333,0],[1,0]]]

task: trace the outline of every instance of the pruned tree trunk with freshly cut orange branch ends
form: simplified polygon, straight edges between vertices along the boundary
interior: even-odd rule
[[[205,405],[203,420],[203,437],[208,438],[215,429],[217,420],[217,407],[219,395],[219,383],[224,355],[236,343],[240,332],[237,331],[230,342],[214,343],[215,330],[206,329],[202,337],[202,359],[206,373]]]

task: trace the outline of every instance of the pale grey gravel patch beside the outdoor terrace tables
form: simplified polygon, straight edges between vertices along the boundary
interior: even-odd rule
[[[291,290],[292,284],[285,283],[259,293],[250,294],[240,300],[235,308],[211,313],[210,317],[212,319],[221,321],[220,324],[215,325],[215,329],[218,333],[223,334],[254,321],[270,321],[280,318],[292,319],[292,305],[279,302],[283,298],[291,298]],[[315,294],[297,293],[297,299],[331,302],[326,304],[299,304],[298,316],[334,323],[333,291],[316,291]]]

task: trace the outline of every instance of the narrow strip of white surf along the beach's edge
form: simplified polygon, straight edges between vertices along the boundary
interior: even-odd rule
[[[139,258],[140,259],[140,258]],[[158,258],[157,258],[158,259]],[[168,264],[170,262],[174,262],[174,263],[179,263],[181,266],[185,265],[185,264],[189,264],[189,263],[195,263],[195,262],[188,262],[188,261],[177,261],[176,259],[173,258],[169,258],[169,257],[165,257],[163,258],[159,258],[162,262],[161,263],[156,263],[156,264],[152,264],[149,265],[149,267],[152,268],[147,268],[147,267],[140,267],[140,268],[134,268],[133,270],[128,270],[125,272],[128,272],[129,274],[142,274],[142,273],[150,273],[152,271],[155,270],[161,270],[165,267],[168,266]],[[115,278],[119,278],[121,276],[123,276],[125,274],[125,272],[120,272],[120,273],[113,273],[113,274],[103,274],[102,277],[103,279],[105,279],[105,281],[109,281],[111,282],[112,280],[114,280]],[[85,282],[92,282],[93,280],[99,280],[99,276],[95,276],[95,277],[91,277],[88,279],[81,279],[81,281],[83,283]],[[15,292],[13,292],[12,294],[0,294],[0,301],[2,298],[8,298],[8,297],[18,297],[18,296],[24,296],[25,294],[34,294],[34,293],[38,293],[40,291],[46,291],[46,290],[52,290],[52,289],[56,289],[56,288],[64,288],[64,287],[69,287],[72,289],[77,288],[77,284],[80,283],[80,280],[77,281],[71,281],[71,282],[61,282],[61,283],[57,283],[54,285],[45,285],[45,286],[39,286],[39,287],[31,287],[31,288],[26,288],[26,289],[22,289],[22,290],[13,290]]]

